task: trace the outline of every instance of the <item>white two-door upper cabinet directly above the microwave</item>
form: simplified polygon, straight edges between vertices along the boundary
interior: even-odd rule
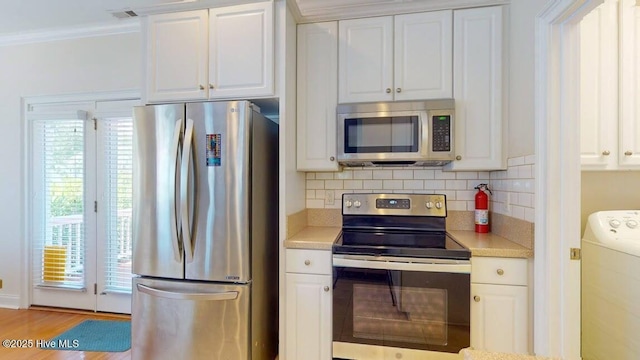
[[[340,21],[339,102],[451,98],[451,13]]]

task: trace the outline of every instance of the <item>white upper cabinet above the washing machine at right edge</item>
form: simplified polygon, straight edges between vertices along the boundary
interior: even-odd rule
[[[640,10],[606,0],[580,23],[583,170],[640,168]]]

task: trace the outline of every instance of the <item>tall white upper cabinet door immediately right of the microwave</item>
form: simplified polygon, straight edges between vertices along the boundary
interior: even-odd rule
[[[453,12],[456,160],[448,170],[506,168],[502,24],[501,6]]]

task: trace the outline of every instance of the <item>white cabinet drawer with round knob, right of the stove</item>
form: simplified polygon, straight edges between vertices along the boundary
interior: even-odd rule
[[[527,259],[472,257],[471,282],[527,285]]]

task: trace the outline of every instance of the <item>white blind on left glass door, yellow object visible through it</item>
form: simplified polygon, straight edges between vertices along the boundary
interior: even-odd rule
[[[84,121],[32,122],[33,283],[85,287]]]

